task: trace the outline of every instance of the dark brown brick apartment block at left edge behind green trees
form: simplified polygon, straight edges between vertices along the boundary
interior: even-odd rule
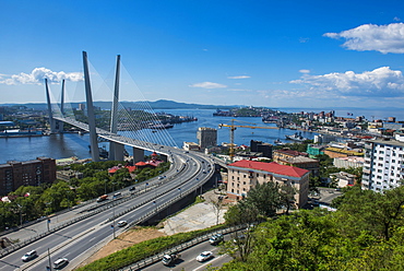
[[[0,165],[0,196],[16,190],[21,186],[39,186],[56,180],[56,161],[37,157],[34,161],[9,161]]]

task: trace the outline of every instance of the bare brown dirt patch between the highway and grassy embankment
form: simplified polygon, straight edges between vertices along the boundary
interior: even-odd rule
[[[119,235],[114,240],[109,241],[106,246],[99,249],[97,252],[92,255],[85,261],[83,261],[80,267],[84,267],[93,261],[107,257],[116,251],[119,251],[123,248],[133,246],[134,244],[154,239],[161,236],[165,236],[166,234],[158,232],[156,228],[133,228],[129,229],[121,235]]]

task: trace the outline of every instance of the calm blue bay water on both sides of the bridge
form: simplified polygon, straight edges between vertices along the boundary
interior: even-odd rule
[[[280,108],[281,109],[281,108]],[[320,109],[316,110],[305,110],[305,109],[282,109],[284,111],[314,111],[318,113]],[[329,111],[330,109],[324,109]],[[157,110],[161,111],[161,110]],[[207,109],[178,109],[178,110],[164,110],[174,115],[181,116],[193,116],[198,118],[194,122],[185,122],[180,125],[175,125],[174,128],[168,129],[170,137],[176,142],[177,146],[182,148],[183,141],[197,142],[197,131],[199,127],[210,127],[218,129],[219,123],[230,125],[230,119],[228,117],[213,117],[215,110]],[[346,116],[346,113],[353,113],[355,116],[366,116],[370,119],[370,116],[375,118],[384,119],[390,116],[394,116],[397,120],[404,119],[404,114],[402,110],[370,110],[370,109],[347,109],[347,110],[336,110],[336,116]],[[368,117],[369,115],[369,117]],[[261,118],[237,118],[240,121],[247,121],[250,123],[257,123],[258,126],[274,126],[265,125],[261,121]],[[248,125],[236,122],[236,125]],[[162,132],[162,131],[157,131]],[[285,141],[285,134],[293,134],[296,131],[287,129],[249,129],[249,128],[238,128],[235,131],[235,143],[250,145],[250,140],[259,140],[268,143],[273,143],[274,140],[281,139]],[[317,133],[302,132],[301,136],[305,138],[313,139]],[[230,133],[229,128],[222,128],[217,130],[217,143],[229,142]],[[0,164],[7,163],[7,161],[29,161],[35,160],[38,156],[46,156],[52,158],[64,158],[70,156],[78,156],[79,158],[91,157],[88,152],[88,134],[79,136],[76,133],[63,133],[63,134],[52,134],[50,137],[38,137],[38,138],[0,138]],[[99,146],[108,148],[107,143],[99,143]],[[131,154],[130,149],[128,152]]]

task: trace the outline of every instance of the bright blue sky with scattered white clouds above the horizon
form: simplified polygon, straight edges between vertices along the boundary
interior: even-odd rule
[[[121,101],[401,107],[403,21],[402,0],[3,0],[0,103],[44,103],[44,78],[81,101],[85,50],[95,101],[121,55]]]

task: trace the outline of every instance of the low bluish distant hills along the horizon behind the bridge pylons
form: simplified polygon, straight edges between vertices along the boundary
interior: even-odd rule
[[[229,109],[237,107],[237,105],[234,106],[224,106],[224,105],[200,105],[200,104],[186,104],[186,103],[178,103],[174,101],[168,99],[158,99],[155,102],[120,102],[122,106],[126,108],[136,108],[139,104],[148,103],[148,105],[153,109]],[[73,108],[78,108],[79,104],[85,104],[85,102],[82,103],[71,103],[71,106]],[[26,106],[28,108],[33,108],[36,110],[46,110],[47,105],[46,103],[38,103],[38,104],[0,104],[0,106]],[[94,106],[98,106],[102,109],[110,109],[111,108],[111,102],[94,102]]]

